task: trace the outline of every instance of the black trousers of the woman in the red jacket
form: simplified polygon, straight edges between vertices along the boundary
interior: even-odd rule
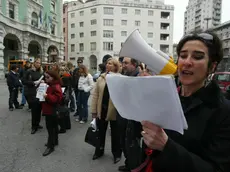
[[[54,148],[58,144],[58,119],[56,115],[46,116],[46,129],[48,131],[48,148]]]

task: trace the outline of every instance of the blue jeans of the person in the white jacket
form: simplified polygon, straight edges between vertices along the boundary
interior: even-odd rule
[[[87,121],[88,120],[88,99],[90,96],[90,92],[78,91],[78,110],[79,110],[79,120]]]

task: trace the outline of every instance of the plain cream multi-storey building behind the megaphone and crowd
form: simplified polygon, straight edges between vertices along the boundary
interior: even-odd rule
[[[103,56],[118,57],[135,29],[150,46],[172,55],[173,19],[174,6],[163,0],[89,0],[69,6],[69,60],[76,64],[82,58],[95,71]]]

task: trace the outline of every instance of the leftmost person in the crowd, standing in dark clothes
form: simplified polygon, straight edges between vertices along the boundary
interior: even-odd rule
[[[18,67],[16,65],[11,65],[10,72],[7,75],[7,86],[9,90],[9,110],[13,111],[15,109],[22,109],[22,106],[18,102],[18,90],[22,87],[22,83],[19,80]]]

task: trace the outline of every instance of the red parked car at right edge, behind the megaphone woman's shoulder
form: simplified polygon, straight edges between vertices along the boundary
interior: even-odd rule
[[[226,92],[230,86],[230,72],[216,72],[213,74],[212,80],[215,80],[220,89]]]

